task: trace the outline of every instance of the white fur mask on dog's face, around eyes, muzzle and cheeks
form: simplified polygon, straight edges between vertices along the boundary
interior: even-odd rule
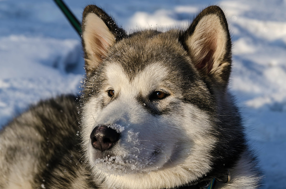
[[[177,92],[171,91],[165,82],[167,68],[160,63],[151,64],[130,81],[121,66],[114,63],[106,68],[106,76],[106,90],[90,99],[83,115],[90,163],[100,178],[106,178],[107,188],[170,188],[208,172],[211,165],[208,154],[216,141],[205,137],[211,127],[208,116],[172,96]],[[109,88],[114,89],[117,99],[102,110],[96,108]],[[171,94],[164,104],[176,101],[183,109],[154,116],[136,101],[138,94],[146,96],[158,89]],[[98,158],[90,144],[89,135],[98,124],[124,127],[118,145],[111,149],[115,159],[119,159],[115,164],[106,157]],[[152,159],[154,151],[159,155]]]

